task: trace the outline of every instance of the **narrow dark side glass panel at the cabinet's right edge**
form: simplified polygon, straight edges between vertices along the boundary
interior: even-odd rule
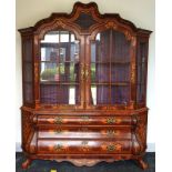
[[[144,102],[145,100],[145,71],[146,71],[146,42],[139,43],[138,51],[138,85],[136,85],[136,102]]]

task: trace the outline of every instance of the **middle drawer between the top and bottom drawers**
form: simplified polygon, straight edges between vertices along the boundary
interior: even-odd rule
[[[38,138],[131,139],[130,127],[40,127]]]

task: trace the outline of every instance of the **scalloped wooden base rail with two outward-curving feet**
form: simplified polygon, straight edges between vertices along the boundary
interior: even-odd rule
[[[64,158],[65,156],[65,158]],[[102,156],[102,158],[101,158]],[[108,162],[108,163],[112,163],[114,161],[120,161],[120,160],[133,160],[138,162],[138,165],[143,169],[146,170],[148,169],[148,163],[144,162],[143,156],[144,153],[142,155],[132,155],[132,154],[103,154],[99,158],[99,155],[87,155],[85,159],[82,155],[79,154],[73,154],[73,155],[54,155],[54,154],[26,154],[26,161],[22,163],[22,169],[28,169],[29,165],[31,164],[32,161],[34,160],[50,160],[50,161],[57,161],[57,162],[62,162],[62,161],[68,161],[71,162],[72,164],[74,164],[75,166],[93,166],[99,162]]]

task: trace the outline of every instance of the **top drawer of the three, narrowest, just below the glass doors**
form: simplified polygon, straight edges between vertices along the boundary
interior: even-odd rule
[[[38,124],[87,124],[87,125],[131,125],[135,123],[131,117],[120,115],[38,115]]]

